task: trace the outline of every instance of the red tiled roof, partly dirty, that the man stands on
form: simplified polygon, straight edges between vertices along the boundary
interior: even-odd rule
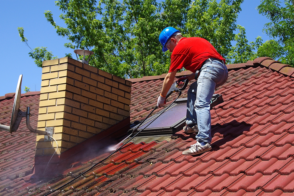
[[[195,134],[183,130],[170,142],[130,143],[51,195],[290,195],[294,191],[294,68],[268,57],[228,68],[227,83],[216,91],[223,94],[224,102],[211,111],[212,151],[182,155],[196,142]],[[178,77],[185,74],[189,73]],[[143,119],[155,106],[164,76],[130,79],[131,122]],[[186,93],[187,89],[181,97]],[[9,124],[13,95],[3,97],[0,123]],[[176,97],[172,94],[168,101]],[[34,143],[25,142],[23,134],[0,134],[2,195],[45,195],[108,155],[73,161],[72,168],[47,184],[45,179],[19,176],[32,172]]]

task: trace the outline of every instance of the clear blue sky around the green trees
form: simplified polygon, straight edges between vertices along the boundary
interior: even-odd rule
[[[58,7],[49,0],[0,0],[0,96],[16,91],[16,84],[20,74],[23,74],[21,93],[25,86],[30,91],[40,91],[42,69],[34,64],[29,57],[30,49],[21,42],[17,27],[24,28],[24,36],[31,48],[47,47],[54,56],[64,57],[66,53],[74,54],[72,49],[64,47],[69,42],[58,36],[54,28],[46,21],[45,10],[50,10],[57,24],[63,26],[59,20]],[[261,36],[263,41],[269,37],[262,29],[266,22],[265,16],[258,14],[256,7],[259,0],[244,0],[241,5],[237,24],[244,26],[248,41],[255,41]],[[75,56],[73,55],[75,58]]]

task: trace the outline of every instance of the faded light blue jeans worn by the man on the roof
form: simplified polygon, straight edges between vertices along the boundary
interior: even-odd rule
[[[187,100],[186,124],[198,125],[198,142],[211,143],[210,101],[216,87],[228,79],[228,69],[218,61],[204,64],[197,81],[190,85]]]

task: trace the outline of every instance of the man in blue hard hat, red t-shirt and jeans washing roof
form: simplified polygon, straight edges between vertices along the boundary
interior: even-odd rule
[[[183,155],[197,155],[211,150],[211,114],[210,101],[216,87],[225,83],[228,69],[225,59],[216,49],[200,37],[183,37],[180,31],[167,27],[161,31],[159,41],[162,51],[171,52],[171,66],[163,81],[163,87],[157,100],[157,106],[166,103],[166,94],[173,84],[179,69],[185,68],[192,74],[178,79],[197,79],[195,73],[200,71],[197,81],[190,85],[187,100],[186,126],[187,133],[196,133],[196,144],[183,151]],[[197,74],[198,76],[198,74]]]

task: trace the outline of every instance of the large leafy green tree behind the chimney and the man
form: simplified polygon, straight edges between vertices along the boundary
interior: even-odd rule
[[[166,73],[170,53],[162,52],[158,36],[166,26],[179,29],[184,36],[201,36],[210,41],[223,57],[231,51],[236,20],[243,0],[59,0],[62,27],[45,12],[47,21],[71,49],[94,52],[89,64],[125,78]],[[20,32],[24,39],[23,29]],[[29,53],[41,61],[55,58],[45,47]],[[70,54],[69,54],[70,55]],[[230,56],[228,56],[230,57]],[[234,57],[231,57],[234,58]]]

